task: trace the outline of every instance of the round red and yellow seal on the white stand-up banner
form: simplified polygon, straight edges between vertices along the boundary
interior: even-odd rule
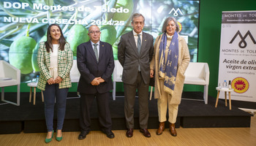
[[[232,80],[231,86],[236,93],[245,93],[249,88],[249,82],[244,77],[236,77]]]

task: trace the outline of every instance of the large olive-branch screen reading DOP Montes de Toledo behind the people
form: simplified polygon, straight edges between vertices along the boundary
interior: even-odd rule
[[[145,17],[143,31],[157,38],[162,23],[176,17],[179,34],[187,39],[192,61],[197,61],[199,0],[1,0],[0,59],[20,69],[21,82],[39,74],[37,50],[46,40],[51,23],[61,26],[76,59],[77,46],[89,41],[88,28],[97,25],[101,41],[117,45],[122,34],[132,31],[131,16]]]

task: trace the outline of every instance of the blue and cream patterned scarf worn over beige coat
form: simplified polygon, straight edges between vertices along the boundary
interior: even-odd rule
[[[159,77],[165,79],[164,91],[173,95],[178,68],[178,34],[176,31],[170,42],[167,58],[165,58],[166,45],[167,35],[165,33],[162,35],[159,46]]]

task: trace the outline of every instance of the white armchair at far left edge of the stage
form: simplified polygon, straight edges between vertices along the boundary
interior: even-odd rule
[[[1,101],[20,106],[20,69],[16,69],[6,61],[0,61]],[[4,87],[17,85],[17,103],[4,99]]]

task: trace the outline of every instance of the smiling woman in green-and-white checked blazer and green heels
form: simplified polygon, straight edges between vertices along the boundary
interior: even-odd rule
[[[37,64],[40,69],[37,88],[43,91],[45,97],[45,122],[48,130],[46,143],[51,142],[53,138],[55,101],[57,107],[56,140],[62,139],[61,129],[66,112],[67,93],[71,87],[69,72],[72,63],[72,50],[64,39],[61,28],[56,24],[50,25],[47,31],[47,41],[40,42],[37,53]]]

